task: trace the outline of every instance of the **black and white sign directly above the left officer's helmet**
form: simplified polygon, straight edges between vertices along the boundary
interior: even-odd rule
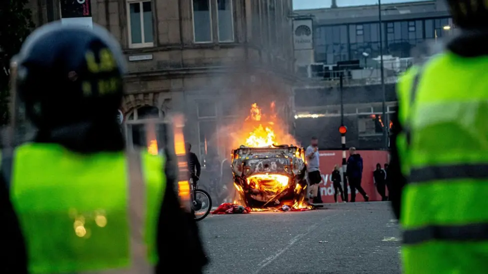
[[[91,0],[61,0],[61,23],[92,27]]]

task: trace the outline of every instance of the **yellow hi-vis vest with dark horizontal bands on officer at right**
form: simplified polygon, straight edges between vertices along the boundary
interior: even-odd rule
[[[405,274],[488,273],[487,67],[446,52],[398,84]]]

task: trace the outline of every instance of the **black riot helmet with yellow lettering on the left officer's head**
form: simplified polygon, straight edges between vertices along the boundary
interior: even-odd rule
[[[18,98],[38,128],[115,121],[125,60],[106,29],[46,24],[27,37],[13,62]]]

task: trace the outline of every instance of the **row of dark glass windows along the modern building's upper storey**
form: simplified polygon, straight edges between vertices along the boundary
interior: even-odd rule
[[[455,27],[449,17],[383,21],[381,39],[379,26],[377,21],[315,26],[315,62],[332,65],[338,61],[361,60],[365,58],[363,53],[377,57],[381,41],[383,55],[410,57],[416,45],[450,35]]]

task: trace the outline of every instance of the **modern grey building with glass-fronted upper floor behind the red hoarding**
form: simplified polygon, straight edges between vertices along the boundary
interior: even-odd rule
[[[337,128],[342,92],[346,145],[385,149],[383,132],[389,132],[391,115],[397,109],[395,81],[412,64],[409,57],[413,57],[413,49],[425,42],[440,43],[456,31],[444,0],[295,12],[313,18],[314,41],[313,63],[305,66],[300,61],[297,66],[297,73],[308,69],[304,74],[308,80],[294,88],[297,140],[306,143],[318,135],[321,148],[340,149]],[[384,89],[380,84],[380,49],[385,60]]]

